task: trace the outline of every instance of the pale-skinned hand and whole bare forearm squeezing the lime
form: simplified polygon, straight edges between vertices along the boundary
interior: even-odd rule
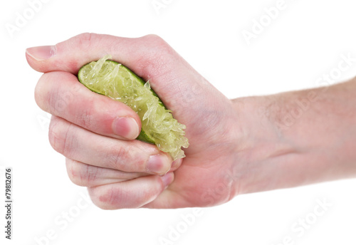
[[[106,54],[150,80],[187,125],[187,157],[172,162],[135,140],[137,114],[78,82],[79,68]],[[209,207],[238,194],[356,177],[356,79],[229,100],[153,35],[84,33],[28,48],[26,58],[44,73],[35,98],[53,115],[52,147],[102,209]]]

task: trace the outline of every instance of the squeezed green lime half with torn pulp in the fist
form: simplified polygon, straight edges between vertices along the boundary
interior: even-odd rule
[[[173,160],[185,157],[182,147],[189,146],[185,125],[178,123],[172,111],[162,103],[142,78],[129,68],[104,56],[78,72],[78,80],[95,93],[108,96],[130,106],[139,115],[142,129],[137,140],[157,145],[162,152],[169,152]]]

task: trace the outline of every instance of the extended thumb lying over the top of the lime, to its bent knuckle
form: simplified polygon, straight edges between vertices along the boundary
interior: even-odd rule
[[[122,38],[82,33],[55,46],[39,46],[26,50],[27,61],[36,71],[66,71],[74,75],[81,66],[107,54],[142,78],[168,73],[169,66],[165,65],[179,58],[162,38],[155,35]]]

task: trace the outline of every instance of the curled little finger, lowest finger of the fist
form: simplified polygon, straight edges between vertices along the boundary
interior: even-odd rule
[[[163,177],[152,175],[89,187],[88,191],[93,203],[101,209],[138,208],[152,202],[173,180],[174,174],[170,172]]]

